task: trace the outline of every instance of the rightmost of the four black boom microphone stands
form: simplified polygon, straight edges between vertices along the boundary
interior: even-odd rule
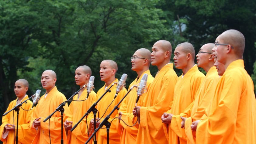
[[[99,127],[97,129],[95,129],[95,131],[92,133],[92,135],[89,137],[89,139],[85,142],[85,144],[87,144],[94,135],[96,135],[96,133],[99,131],[99,129],[102,128],[103,125],[106,126],[106,129],[107,129],[107,144],[109,144],[109,129],[110,129],[110,126],[111,126],[111,123],[108,121],[109,118],[110,118],[110,115],[112,115],[112,113],[117,109],[119,110],[118,108],[118,105],[121,104],[121,102],[123,101],[123,99],[127,96],[127,94],[130,93],[130,91],[133,89],[133,87],[137,87],[136,85],[133,85],[129,91],[124,95],[124,97],[121,99],[121,101],[119,101],[119,103],[113,108],[113,110],[109,113],[109,115],[106,116],[106,118],[104,118],[104,120],[99,124]],[[94,124],[95,125],[95,124]]]

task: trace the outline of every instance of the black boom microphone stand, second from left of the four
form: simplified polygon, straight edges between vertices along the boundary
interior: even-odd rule
[[[68,98],[67,101],[64,101],[63,103],[61,103],[52,114],[50,114],[47,118],[45,118],[43,120],[43,122],[46,122],[49,118],[51,118],[54,115],[55,112],[57,112],[57,111],[61,112],[61,144],[64,143],[63,142],[63,114],[64,114],[63,107],[71,98],[73,98],[76,94],[78,94],[78,92],[81,91],[81,89],[83,89],[85,87],[85,85],[83,87],[81,87],[77,92],[75,92],[70,98]]]

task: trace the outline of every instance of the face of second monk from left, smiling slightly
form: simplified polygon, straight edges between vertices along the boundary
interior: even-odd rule
[[[55,86],[56,78],[51,74],[50,71],[44,71],[41,76],[42,87],[46,90],[51,89]]]

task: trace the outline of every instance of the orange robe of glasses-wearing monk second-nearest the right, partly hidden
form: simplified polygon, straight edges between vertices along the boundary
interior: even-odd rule
[[[205,80],[200,86],[200,90],[195,97],[195,101],[192,103],[192,107],[189,109],[189,111],[191,111],[190,115],[185,113],[185,117],[190,116],[185,121],[185,133],[188,138],[188,143],[195,143],[195,132],[192,132],[190,126],[192,125],[192,122],[199,120],[205,113],[205,108],[213,99],[219,77],[216,67],[211,67],[206,74]]]

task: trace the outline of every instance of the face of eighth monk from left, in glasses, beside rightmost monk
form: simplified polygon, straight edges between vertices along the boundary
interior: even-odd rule
[[[209,58],[212,57],[212,54],[207,51],[207,45],[204,45],[199,50],[198,54],[196,55],[196,63],[198,67],[204,68],[208,65]]]

